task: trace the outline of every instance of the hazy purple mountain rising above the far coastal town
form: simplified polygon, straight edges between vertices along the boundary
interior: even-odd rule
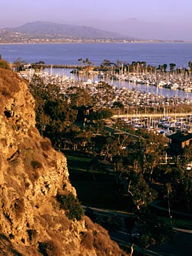
[[[84,25],[66,25],[54,22],[28,22],[17,28],[5,28],[7,32],[19,32],[35,36],[62,36],[80,38],[125,38],[123,35],[107,32]],[[127,37],[126,37],[127,38]]]

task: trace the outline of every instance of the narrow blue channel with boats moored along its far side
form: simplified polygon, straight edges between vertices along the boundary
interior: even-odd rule
[[[68,78],[73,79],[74,81],[84,81],[90,83],[97,83],[98,81],[108,82],[109,85],[115,85],[118,88],[127,88],[128,90],[141,91],[141,93],[151,93],[152,95],[163,95],[167,98],[176,98],[180,101],[188,101],[192,103],[192,83],[191,78],[187,78],[187,81],[184,81],[184,78],[171,78],[169,85],[165,81],[166,77],[155,75],[137,75],[130,74],[116,75],[115,78],[111,74],[106,73],[105,75],[99,74],[89,74],[89,73],[80,73],[75,74],[71,73],[73,69],[71,68],[45,68],[45,71],[48,71],[51,75],[56,75],[59,77],[68,76]],[[163,82],[164,81],[164,82]],[[177,83],[177,88],[176,84]],[[184,90],[184,85],[188,85],[188,90]]]

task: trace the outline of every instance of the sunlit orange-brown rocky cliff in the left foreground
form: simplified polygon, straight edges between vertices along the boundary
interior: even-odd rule
[[[0,68],[0,254],[121,255],[107,231],[61,208],[57,195],[76,191],[65,156],[35,128],[34,105],[25,81]]]

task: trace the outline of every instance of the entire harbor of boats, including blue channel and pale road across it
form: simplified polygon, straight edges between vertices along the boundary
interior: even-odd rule
[[[139,84],[125,79],[112,81],[104,77],[99,78],[98,75],[75,76],[66,68],[45,69],[42,72],[21,71],[19,75],[28,81],[36,75],[42,79],[45,86],[58,85],[64,95],[68,95],[68,88],[85,88],[91,95],[100,95],[100,105],[94,106],[96,108],[101,106],[113,108],[114,102],[121,102],[124,110],[116,109],[114,120],[123,120],[135,129],[147,128],[164,135],[170,135],[174,131],[192,131],[192,92],[190,91],[181,91],[182,95],[180,95],[178,89],[158,88],[155,85]],[[111,90],[108,93],[114,94],[114,98],[108,102],[103,100],[105,91],[101,91],[102,86],[107,82]],[[174,95],[171,94],[173,91]]]

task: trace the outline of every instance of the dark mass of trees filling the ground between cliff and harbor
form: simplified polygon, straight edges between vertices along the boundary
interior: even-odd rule
[[[106,101],[114,97],[108,85],[100,86],[108,91]],[[127,133],[113,133],[105,125],[114,110],[103,105],[84,114],[87,106],[89,110],[99,106],[100,100],[98,95],[91,96],[88,89],[74,86],[62,94],[58,85],[45,85],[35,76],[29,88],[36,101],[38,130],[51,139],[55,148],[91,155],[91,171],[101,171],[101,160],[111,163],[113,175],[117,175],[118,182],[123,185],[120,193],[127,196],[130,210],[137,215],[142,227],[139,240],[142,247],[170,239],[170,208],[180,205],[177,210],[192,213],[192,171],[187,168],[192,161],[191,145],[184,148],[179,157],[172,155],[171,163],[165,162],[165,155],[171,151],[163,135],[154,135],[144,128],[134,130],[123,120],[113,125]],[[151,216],[148,205],[155,199],[168,208],[169,224]],[[77,212],[74,215],[71,218],[80,218]]]

